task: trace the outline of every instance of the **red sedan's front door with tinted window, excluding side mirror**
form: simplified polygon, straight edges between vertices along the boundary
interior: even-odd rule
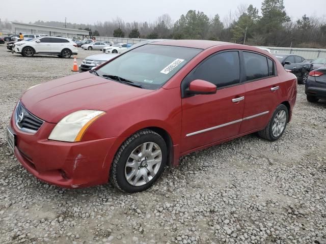
[[[182,81],[181,89],[202,79],[218,87],[216,94],[182,98],[181,153],[239,133],[244,108],[238,51],[223,51],[203,60]]]

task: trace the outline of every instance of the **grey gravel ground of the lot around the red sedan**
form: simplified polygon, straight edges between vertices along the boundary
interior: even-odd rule
[[[80,61],[97,51],[79,49]],[[73,59],[0,45],[0,243],[326,243],[326,102],[298,86],[283,137],[248,135],[182,157],[149,190],[66,190],[29,174],[5,143],[28,87],[71,75]]]

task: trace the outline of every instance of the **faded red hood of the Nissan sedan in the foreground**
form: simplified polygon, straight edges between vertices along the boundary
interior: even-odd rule
[[[151,92],[153,90],[121,84],[84,72],[31,88],[22,95],[21,102],[37,117],[49,123],[58,123],[74,111],[107,111],[123,101]]]

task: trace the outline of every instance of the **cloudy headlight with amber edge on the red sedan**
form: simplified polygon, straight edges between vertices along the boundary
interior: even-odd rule
[[[59,121],[52,130],[49,140],[75,142],[82,140],[87,128],[105,112],[98,110],[79,110]]]

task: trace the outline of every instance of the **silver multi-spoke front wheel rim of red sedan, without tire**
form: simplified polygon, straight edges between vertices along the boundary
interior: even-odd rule
[[[134,148],[125,165],[125,178],[132,186],[143,186],[157,174],[162,163],[161,148],[145,142]]]

